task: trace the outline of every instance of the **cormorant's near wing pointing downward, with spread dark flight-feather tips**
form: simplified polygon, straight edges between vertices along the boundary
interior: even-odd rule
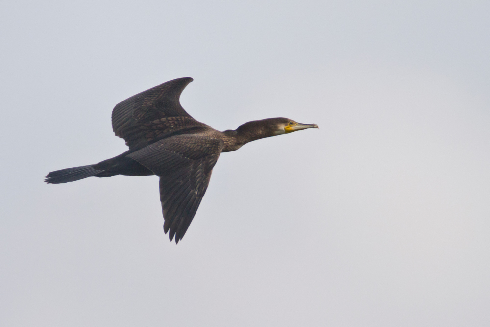
[[[128,155],[160,176],[165,233],[184,237],[201,203],[223,141],[200,135],[176,135]]]

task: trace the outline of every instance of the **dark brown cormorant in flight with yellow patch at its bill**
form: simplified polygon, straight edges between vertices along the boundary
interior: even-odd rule
[[[180,105],[180,94],[192,82],[177,78],[134,95],[112,111],[112,128],[129,150],[94,165],[50,172],[49,184],[96,176],[160,177],[163,229],[175,243],[184,237],[206,192],[221,152],[238,150],[245,143],[307,128],[287,118],[251,121],[236,130],[220,132],[196,121]]]

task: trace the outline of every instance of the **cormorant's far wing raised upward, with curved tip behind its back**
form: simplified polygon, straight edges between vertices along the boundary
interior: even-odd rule
[[[163,135],[194,126],[197,122],[180,105],[180,94],[192,82],[191,77],[177,78],[138,93],[112,110],[112,129],[129,149],[141,149]]]

